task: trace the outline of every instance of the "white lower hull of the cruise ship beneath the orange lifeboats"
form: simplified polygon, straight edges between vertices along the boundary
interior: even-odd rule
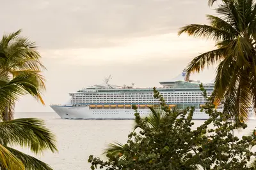
[[[51,108],[61,117],[65,119],[134,119],[134,110],[132,109],[89,109],[88,106],[51,106]],[[145,117],[150,113],[149,109],[138,109],[141,117]],[[221,110],[220,110],[221,111]],[[254,118],[250,113],[250,118]],[[206,120],[209,118],[207,114],[199,109],[195,110],[193,119]]]

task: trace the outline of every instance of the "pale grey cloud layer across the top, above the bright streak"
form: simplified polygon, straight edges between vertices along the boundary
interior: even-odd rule
[[[22,28],[42,48],[99,48],[176,33],[209,11],[205,0],[13,0],[1,6],[0,32]]]

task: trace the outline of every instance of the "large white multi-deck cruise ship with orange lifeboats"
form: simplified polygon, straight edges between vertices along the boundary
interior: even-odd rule
[[[193,119],[205,120],[207,114],[200,111],[205,104],[205,98],[199,88],[200,81],[185,80],[186,69],[171,81],[162,81],[161,88],[157,90],[163,95],[170,108],[184,109],[188,106],[195,107]],[[67,104],[54,104],[51,108],[65,119],[134,119],[132,105],[136,105],[141,117],[146,117],[150,110],[148,106],[160,106],[154,99],[153,88],[134,88],[131,86],[110,85],[106,78],[102,85],[93,85],[77,92],[70,93]],[[211,96],[214,83],[205,83],[207,96]],[[218,106],[218,111],[222,110]],[[250,116],[253,111],[250,110]]]

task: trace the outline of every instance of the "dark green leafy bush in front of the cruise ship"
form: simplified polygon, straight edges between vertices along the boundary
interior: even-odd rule
[[[204,97],[204,87],[200,85]],[[136,111],[136,123],[141,131],[131,132],[121,152],[108,153],[107,161],[90,155],[91,169],[254,169],[249,162],[256,153],[255,132],[239,139],[236,129],[246,129],[244,122],[233,121],[231,116],[214,110],[214,104],[207,102],[204,111],[209,119],[194,127],[192,122],[195,108],[172,112],[163,96],[154,89],[166,117],[161,119],[159,128],[148,125],[148,118],[141,119]],[[194,130],[193,130],[194,129]]]

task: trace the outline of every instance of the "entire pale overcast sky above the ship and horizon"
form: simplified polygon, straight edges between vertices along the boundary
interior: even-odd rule
[[[161,87],[214,42],[178,36],[186,24],[208,24],[207,0],[10,0],[1,4],[0,36],[22,29],[47,67],[45,106],[20,98],[17,112],[52,112],[69,92],[102,83]],[[192,79],[209,82],[215,67]]]

